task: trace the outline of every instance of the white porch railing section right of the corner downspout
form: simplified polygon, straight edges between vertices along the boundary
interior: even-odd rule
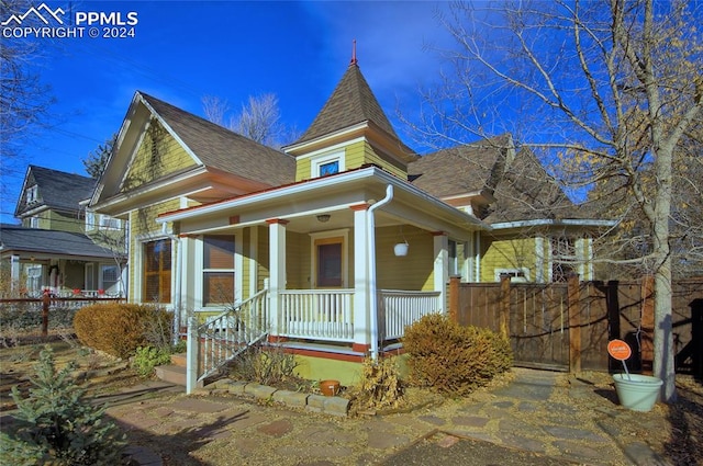
[[[442,309],[439,292],[381,289],[378,292],[379,340],[401,338],[405,326]]]

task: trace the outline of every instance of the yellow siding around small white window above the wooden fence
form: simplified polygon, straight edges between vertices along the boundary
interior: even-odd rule
[[[488,245],[481,258],[481,282],[494,282],[498,269],[529,270],[529,281],[535,281],[536,253],[534,238],[494,239]]]

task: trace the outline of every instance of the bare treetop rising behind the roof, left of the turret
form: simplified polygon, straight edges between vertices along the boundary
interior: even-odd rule
[[[298,137],[294,128],[289,128],[281,122],[276,94],[249,96],[241,112],[228,118],[231,109],[226,100],[207,95],[202,99],[202,104],[205,118],[265,146],[280,148]]]

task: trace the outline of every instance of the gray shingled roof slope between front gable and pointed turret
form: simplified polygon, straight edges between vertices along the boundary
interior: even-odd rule
[[[143,92],[205,167],[279,186],[295,180],[295,159]]]

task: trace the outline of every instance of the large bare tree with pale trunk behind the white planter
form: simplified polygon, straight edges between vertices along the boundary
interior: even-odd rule
[[[678,216],[673,171],[703,112],[702,8],[683,0],[453,3],[439,21],[456,47],[443,52],[444,86],[425,94],[417,125],[435,144],[510,132],[558,168],[572,194],[606,182],[626,193],[618,215],[640,220],[646,245],[628,262],[655,275],[654,371],[668,402],[676,400],[672,224],[690,221]],[[700,195],[696,177],[688,185]]]

